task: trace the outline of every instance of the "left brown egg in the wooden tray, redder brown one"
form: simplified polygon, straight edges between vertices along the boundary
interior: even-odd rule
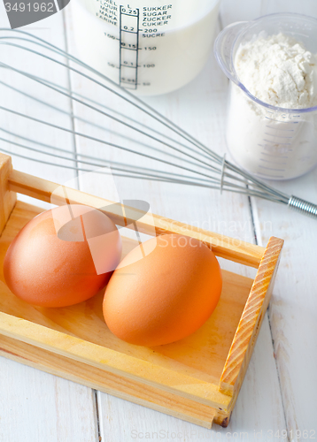
[[[63,307],[94,296],[120,263],[117,227],[101,211],[70,204],[32,219],[12,241],[4,278],[31,304]]]

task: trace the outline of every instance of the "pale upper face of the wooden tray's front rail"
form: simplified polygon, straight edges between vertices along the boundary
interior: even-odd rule
[[[217,385],[189,377],[173,370],[120,354],[43,325],[0,312],[1,333],[9,338],[107,370],[119,376],[142,380],[146,385],[160,386],[166,392],[178,392],[184,398],[197,400],[209,407],[228,410],[231,398],[219,392]]]

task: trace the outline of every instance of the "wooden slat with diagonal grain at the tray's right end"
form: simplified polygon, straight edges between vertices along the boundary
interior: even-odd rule
[[[244,313],[236,330],[220,378],[220,392],[230,396],[237,396],[236,393],[240,390],[244,380],[259,328],[272,294],[283,242],[283,240],[274,237],[268,241]]]

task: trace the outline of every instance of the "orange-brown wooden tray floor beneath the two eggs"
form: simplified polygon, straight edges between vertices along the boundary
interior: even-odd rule
[[[19,230],[41,211],[42,209],[35,206],[17,202],[10,223],[6,225],[0,239],[0,262],[4,260],[6,250]],[[136,244],[135,240],[123,238],[123,256]],[[104,324],[103,292],[89,301],[62,309],[38,308],[19,300],[10,292],[4,284],[2,269],[0,269],[0,283],[2,281],[0,309],[13,316],[19,312],[19,317],[35,324],[71,334],[100,346],[106,345],[116,352],[129,354],[218,385],[252,284],[251,278],[228,271],[222,271],[222,277],[221,298],[213,316],[199,331],[188,338],[163,347],[132,346],[116,338]]]

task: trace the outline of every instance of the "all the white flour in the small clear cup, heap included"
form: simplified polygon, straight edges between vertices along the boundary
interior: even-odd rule
[[[235,68],[244,87],[264,103],[298,110],[317,106],[317,57],[287,35],[241,46]],[[317,164],[317,111],[270,110],[232,85],[227,141],[244,169],[263,178],[295,178]]]

